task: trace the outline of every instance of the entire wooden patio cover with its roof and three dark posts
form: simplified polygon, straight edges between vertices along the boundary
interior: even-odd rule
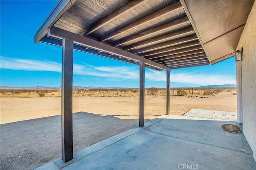
[[[243,0],[59,1],[39,28],[34,42],[63,47],[63,160],[73,158],[73,49],[140,65],[140,127],[143,127],[144,67],[166,70],[169,89],[171,69],[214,64],[234,56],[253,3]]]

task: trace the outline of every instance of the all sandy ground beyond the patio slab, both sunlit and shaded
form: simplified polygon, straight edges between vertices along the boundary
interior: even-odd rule
[[[145,121],[166,113],[166,96],[145,97]],[[236,112],[236,95],[171,97],[172,114]],[[1,98],[1,169],[34,169],[61,157],[61,98]],[[139,97],[74,97],[74,152],[138,126]]]

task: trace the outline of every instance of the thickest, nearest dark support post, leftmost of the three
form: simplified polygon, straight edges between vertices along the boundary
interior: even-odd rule
[[[68,162],[73,159],[73,48],[71,40],[62,42],[62,160]]]

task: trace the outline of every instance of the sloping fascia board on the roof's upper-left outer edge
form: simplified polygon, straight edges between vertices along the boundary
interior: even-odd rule
[[[76,0],[60,0],[53,8],[50,15],[46,18],[42,26],[36,32],[34,42],[38,43],[44,35],[47,34],[48,28],[51,28],[58,19],[76,2]]]

